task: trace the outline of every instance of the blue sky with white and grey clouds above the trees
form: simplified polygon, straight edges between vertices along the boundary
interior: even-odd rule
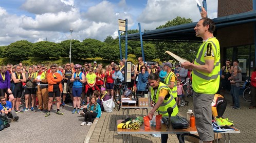
[[[203,0],[199,0],[202,2]],[[217,0],[207,0],[209,18],[217,17]],[[195,0],[0,0],[0,45],[18,40],[60,42],[118,36],[118,19],[128,29],[154,30],[181,16],[200,19]]]

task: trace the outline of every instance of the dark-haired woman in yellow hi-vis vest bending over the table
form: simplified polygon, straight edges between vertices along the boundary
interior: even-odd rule
[[[162,116],[169,116],[167,109],[169,107],[173,108],[171,116],[176,116],[178,114],[178,107],[174,97],[172,96],[171,89],[166,85],[160,82],[158,75],[151,73],[149,75],[149,84],[151,86],[151,102],[150,105],[153,109],[149,112],[150,120],[152,120],[155,111]],[[178,135],[178,134],[177,134]],[[168,134],[161,134],[161,142],[167,142]]]

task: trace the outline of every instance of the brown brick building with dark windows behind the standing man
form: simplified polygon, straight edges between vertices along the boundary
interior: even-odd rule
[[[218,1],[218,17],[231,16],[253,11],[255,0],[222,0]],[[243,77],[250,77],[255,63],[255,22],[219,28],[216,37],[221,46],[221,63],[226,59],[238,59],[242,67]]]

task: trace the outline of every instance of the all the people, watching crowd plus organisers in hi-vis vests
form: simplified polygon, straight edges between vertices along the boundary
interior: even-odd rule
[[[231,90],[232,107],[240,109],[239,86],[242,82],[239,61],[226,60],[226,65],[220,67],[220,45],[213,36],[214,22],[205,18],[206,11],[203,8],[202,19],[196,25],[197,37],[203,38],[203,43],[194,62],[184,62],[173,66],[170,62],[163,63],[160,68],[158,62],[147,65],[142,57],[138,57],[138,63],[132,66],[131,79],[127,84],[136,94],[143,95],[151,92],[152,110],[149,112],[150,120],[158,112],[168,116],[167,109],[173,108],[172,116],[178,114],[180,98],[185,94],[182,82],[186,78],[192,80],[193,76],[193,105],[196,118],[197,132],[204,142],[212,142],[214,120],[231,124],[223,118],[227,102],[224,96],[216,94],[221,81],[221,92]],[[204,53],[204,54],[203,54]],[[17,65],[7,64],[0,69],[0,111],[1,115],[7,115],[13,121],[19,120],[17,113],[35,110],[45,112],[45,117],[51,114],[53,103],[57,105],[57,114],[63,115],[61,106],[65,106],[67,93],[71,96],[74,109],[71,113],[84,115],[81,126],[90,126],[94,118],[98,120],[104,107],[102,100],[113,97],[114,84],[123,82],[125,77],[125,59],[118,64],[112,62],[103,67],[102,64],[85,62],[84,65],[66,63],[64,67],[57,64],[50,65],[48,69],[43,64],[28,67],[22,63]],[[192,72],[193,70],[193,72]],[[220,70],[221,73],[220,74]],[[250,109],[256,107],[255,103],[255,74],[252,75],[252,102]],[[192,75],[193,74],[193,75]],[[222,80],[221,80],[222,79]],[[25,106],[20,109],[22,92],[25,90]],[[81,106],[84,105],[84,106]],[[82,111],[81,111],[82,110]],[[213,112],[212,112],[213,111]],[[162,142],[167,142],[168,134],[161,134]]]

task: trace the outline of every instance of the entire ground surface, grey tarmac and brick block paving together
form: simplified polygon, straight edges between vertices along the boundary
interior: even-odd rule
[[[225,96],[228,105],[231,97]],[[179,114],[186,116],[188,109],[193,109],[192,98],[188,106],[179,108]],[[249,102],[240,98],[241,109],[233,110],[227,106],[224,117],[234,121],[234,125],[241,131],[240,134],[231,134],[231,142],[256,142],[256,109],[248,109]],[[25,111],[19,113],[19,122],[12,122],[11,127],[0,132],[2,142],[122,142],[122,135],[117,134],[117,120],[122,119],[122,112],[114,110],[112,113],[103,112],[99,121],[95,121],[91,127],[83,126],[83,117],[72,114],[70,105],[61,107],[64,115],[56,114],[56,106],[48,117],[45,113]],[[142,110],[130,110],[130,117],[141,115]],[[146,114],[145,111],[143,111]],[[148,134],[132,134],[130,142],[160,142],[159,137]],[[169,134],[168,142],[178,142],[176,135]],[[219,142],[224,142],[221,139]]]

